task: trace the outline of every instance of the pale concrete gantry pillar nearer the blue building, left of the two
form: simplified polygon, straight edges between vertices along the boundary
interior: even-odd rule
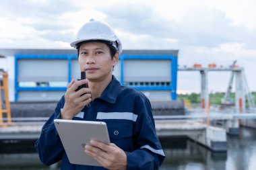
[[[209,103],[209,93],[208,93],[208,77],[207,70],[203,69],[201,73],[201,108],[207,108]]]

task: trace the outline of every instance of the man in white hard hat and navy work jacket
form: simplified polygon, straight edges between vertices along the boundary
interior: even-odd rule
[[[61,160],[61,169],[159,169],[164,152],[156,135],[152,108],[143,93],[123,87],[112,75],[122,52],[121,41],[104,22],[91,19],[71,43],[77,48],[79,67],[86,80],[71,81],[55,113],[42,127],[35,143],[46,165]],[[76,91],[88,84],[88,88]],[[108,126],[110,144],[91,140],[85,154],[102,167],[73,165],[53,124],[55,119],[103,121]]]

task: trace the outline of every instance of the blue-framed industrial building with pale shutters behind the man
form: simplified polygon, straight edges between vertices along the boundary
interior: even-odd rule
[[[13,73],[14,101],[58,101],[67,83],[79,79],[76,50],[0,49],[0,54]],[[151,100],[175,100],[177,55],[178,50],[123,50],[113,74]]]

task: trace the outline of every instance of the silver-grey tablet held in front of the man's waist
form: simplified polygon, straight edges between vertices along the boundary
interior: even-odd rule
[[[54,123],[70,163],[102,166],[84,152],[84,146],[90,140],[110,143],[105,122],[55,119]]]

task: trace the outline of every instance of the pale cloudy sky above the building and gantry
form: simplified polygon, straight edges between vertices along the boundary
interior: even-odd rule
[[[179,50],[180,67],[237,60],[256,91],[255,0],[0,0],[0,7],[0,48],[71,48],[94,18],[110,24],[126,50]],[[209,90],[226,91],[229,77],[209,73]],[[199,92],[199,73],[179,71],[178,91]]]

